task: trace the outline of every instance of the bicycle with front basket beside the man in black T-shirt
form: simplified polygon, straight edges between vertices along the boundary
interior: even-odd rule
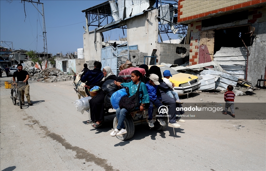
[[[22,109],[22,101],[21,101],[21,91],[25,90],[26,82],[23,81],[12,81],[11,82],[11,96],[13,105],[16,105],[16,100],[19,100],[20,109]]]

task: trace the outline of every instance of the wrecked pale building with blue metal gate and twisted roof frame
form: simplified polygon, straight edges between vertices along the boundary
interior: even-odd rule
[[[189,40],[175,44],[170,38],[170,43],[163,43],[161,38],[162,34],[186,35],[188,24],[177,23],[177,1],[113,0],[82,12],[87,22],[83,42],[84,62],[88,64],[101,61],[117,74],[126,60],[134,66],[144,64],[144,60],[145,64],[178,65],[189,61]],[[89,31],[92,26],[93,30]],[[105,32],[115,28],[126,32],[126,43],[103,47]]]

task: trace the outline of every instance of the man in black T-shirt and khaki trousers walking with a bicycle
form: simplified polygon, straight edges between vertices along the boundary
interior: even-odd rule
[[[22,101],[22,105],[24,105],[24,94],[26,95],[27,101],[28,101],[28,105],[32,106],[33,104],[31,103],[31,99],[30,99],[30,86],[28,84],[28,79],[29,79],[29,73],[26,70],[23,70],[23,66],[21,64],[18,64],[18,70],[14,72],[13,74],[13,81],[23,81],[26,82],[26,87],[25,90],[21,91],[21,101]]]

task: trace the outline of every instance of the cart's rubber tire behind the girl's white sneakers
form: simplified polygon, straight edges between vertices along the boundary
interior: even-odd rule
[[[117,127],[118,120],[115,117],[113,122],[114,129]],[[126,118],[124,120],[124,125],[126,127],[127,133],[123,134],[121,136],[116,136],[119,140],[128,140],[131,139],[135,132],[134,122],[130,115],[126,115]]]

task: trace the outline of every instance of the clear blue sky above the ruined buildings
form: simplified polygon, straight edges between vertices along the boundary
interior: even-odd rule
[[[44,3],[48,53],[55,55],[62,51],[65,55],[69,51],[74,52],[77,48],[83,48],[83,26],[86,27],[86,20],[85,14],[81,11],[105,1],[40,0],[40,2]],[[34,5],[37,7],[36,3]],[[41,5],[38,5],[38,9],[41,11]],[[20,0],[0,0],[0,41],[12,41],[16,50],[43,52],[42,16],[29,2],[25,2],[25,12],[26,19],[24,3]],[[89,31],[93,29],[89,27]],[[122,29],[119,28],[104,32],[105,38],[106,36],[108,38],[108,35],[110,40],[118,40],[119,35],[124,37]],[[171,38],[177,39],[177,34]],[[8,47],[6,44],[0,43],[0,45]]]

